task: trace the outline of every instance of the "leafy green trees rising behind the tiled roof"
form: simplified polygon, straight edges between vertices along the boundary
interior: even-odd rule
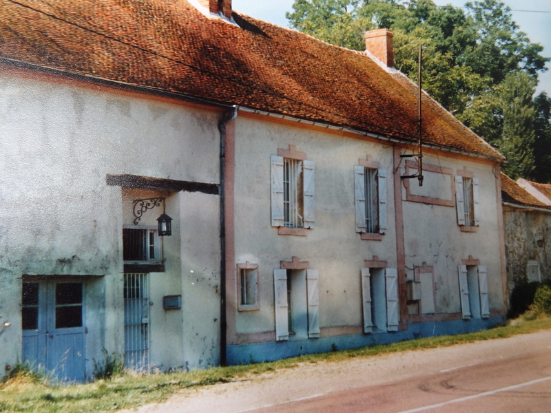
[[[542,181],[537,148],[550,143],[550,103],[532,100],[550,59],[530,42],[498,0],[464,8],[433,0],[295,0],[291,27],[328,43],[364,50],[366,30],[392,29],[395,66],[417,78],[424,49],[424,89],[508,158],[506,171]],[[541,130],[540,130],[541,129]],[[539,146],[538,146],[539,145]],[[548,160],[547,160],[548,162]],[[537,165],[537,168],[534,166]],[[543,181],[551,179],[551,171]]]

